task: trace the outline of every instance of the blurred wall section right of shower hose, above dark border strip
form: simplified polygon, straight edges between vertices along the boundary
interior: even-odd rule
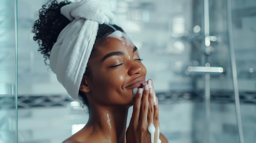
[[[256,1],[234,0],[233,33],[239,90],[256,90]]]

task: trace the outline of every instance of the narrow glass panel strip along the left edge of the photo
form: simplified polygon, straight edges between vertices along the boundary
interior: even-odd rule
[[[17,143],[15,4],[0,1],[0,143]]]

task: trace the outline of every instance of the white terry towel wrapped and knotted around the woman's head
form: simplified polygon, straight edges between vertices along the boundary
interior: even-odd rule
[[[67,93],[79,99],[79,87],[99,24],[119,24],[108,0],[81,0],[65,5],[61,13],[71,23],[61,31],[52,47],[50,67]]]

